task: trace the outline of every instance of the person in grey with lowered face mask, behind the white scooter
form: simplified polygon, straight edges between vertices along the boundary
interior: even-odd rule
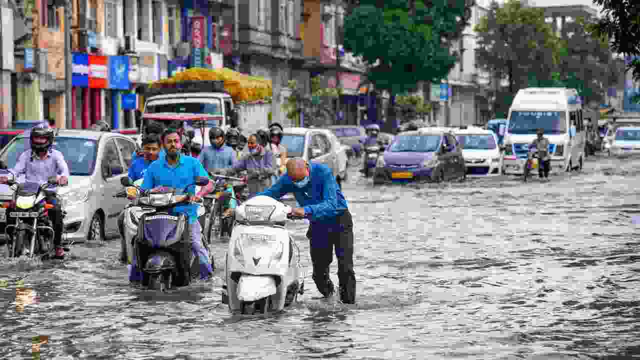
[[[232,176],[246,170],[249,197],[253,197],[256,193],[262,192],[265,188],[271,186],[271,176],[275,174],[275,169],[273,168],[271,152],[266,151],[258,143],[257,135],[249,136],[246,146],[248,152],[226,173]]]

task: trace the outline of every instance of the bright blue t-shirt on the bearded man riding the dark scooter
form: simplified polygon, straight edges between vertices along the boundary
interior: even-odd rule
[[[178,190],[184,190],[187,185],[187,193],[193,195],[195,193],[196,176],[208,177],[207,172],[202,167],[198,159],[179,155],[176,167],[171,167],[166,158],[158,159],[149,165],[141,188],[150,190],[157,186],[169,186]],[[198,206],[196,204],[179,205],[173,208],[173,213],[186,214],[189,217],[189,224],[193,224],[198,220]]]

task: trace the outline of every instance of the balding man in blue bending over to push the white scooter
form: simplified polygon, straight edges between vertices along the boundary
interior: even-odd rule
[[[353,220],[347,200],[335,181],[332,170],[324,164],[312,163],[300,158],[287,161],[287,173],[271,188],[257,195],[279,200],[286,193],[293,193],[302,208],[292,209],[292,215],[310,218],[307,238],[310,240],[313,279],[324,297],[333,295],[333,282],[329,266],[333,260],[333,248],[338,258],[340,300],[354,304],[356,278],[353,272]]]

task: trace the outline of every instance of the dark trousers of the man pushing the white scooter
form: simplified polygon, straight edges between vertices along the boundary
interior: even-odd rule
[[[353,271],[353,219],[349,211],[344,211],[335,224],[311,224],[307,231],[310,241],[313,279],[318,291],[324,296],[333,293],[333,282],[329,277],[329,266],[333,252],[338,259],[338,280],[340,300],[354,304],[356,297],[356,277]]]

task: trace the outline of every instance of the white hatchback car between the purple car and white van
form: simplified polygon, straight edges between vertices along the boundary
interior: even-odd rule
[[[502,152],[493,131],[469,126],[455,129],[462,145],[467,176],[498,176],[502,174]]]

